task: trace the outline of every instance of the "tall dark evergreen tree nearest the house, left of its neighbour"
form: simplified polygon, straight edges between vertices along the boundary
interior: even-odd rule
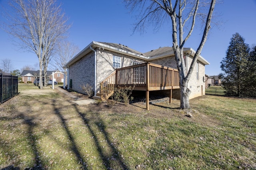
[[[241,90],[247,86],[245,74],[249,52],[250,47],[244,43],[244,38],[239,33],[233,34],[226,57],[220,63],[220,68],[224,71],[222,84],[227,95],[240,97],[244,93]]]

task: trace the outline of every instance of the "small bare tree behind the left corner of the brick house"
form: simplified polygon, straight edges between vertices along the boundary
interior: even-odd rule
[[[56,53],[52,59],[52,66],[55,70],[59,70],[67,75],[67,69],[62,68],[70,59],[72,59],[80,49],[78,46],[70,43],[69,41],[62,41],[57,44]],[[65,77],[64,77],[65,78]]]

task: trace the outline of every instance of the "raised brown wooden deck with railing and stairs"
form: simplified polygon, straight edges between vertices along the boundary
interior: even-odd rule
[[[146,108],[149,109],[149,91],[180,88],[178,70],[153,63],[118,68],[100,82],[101,100],[108,99],[115,87],[134,87],[134,90],[146,91]]]

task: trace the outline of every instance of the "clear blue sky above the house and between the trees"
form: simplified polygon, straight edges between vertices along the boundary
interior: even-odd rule
[[[135,16],[128,13],[122,0],[99,0],[97,3],[89,0],[59,2],[69,18],[68,22],[72,23],[68,39],[80,50],[92,41],[121,43],[142,53],[172,46],[170,23],[162,26],[156,33],[149,26],[143,35],[138,32],[132,35]],[[6,6],[6,0],[0,0],[0,5]],[[201,53],[210,63],[206,65],[205,73],[211,76],[221,72],[220,61],[226,56],[232,34],[238,32],[245,38],[245,43],[256,45],[256,0],[224,0],[222,4],[216,4],[214,10],[220,14],[217,20],[223,22],[219,28],[212,27]],[[0,16],[0,21],[3,20]],[[196,50],[201,37],[202,31],[195,31],[185,47]],[[34,53],[19,51],[8,34],[0,29],[0,62],[6,58],[12,61],[13,70],[38,63]]]

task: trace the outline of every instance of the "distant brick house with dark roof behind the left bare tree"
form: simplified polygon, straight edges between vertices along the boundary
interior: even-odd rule
[[[47,75],[49,75],[50,79],[52,79],[52,72],[54,71],[47,71]],[[20,76],[22,82],[27,83],[28,81],[31,81],[33,83],[36,78],[39,78],[39,70],[23,70]],[[54,81],[64,82],[64,73],[59,71],[54,72]]]

